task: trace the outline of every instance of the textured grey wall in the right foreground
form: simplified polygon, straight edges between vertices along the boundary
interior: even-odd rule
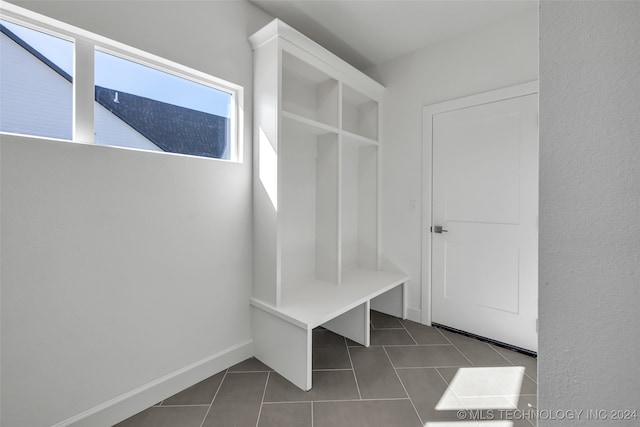
[[[571,425],[638,424],[639,46],[638,2],[541,3],[539,407],[609,417]]]

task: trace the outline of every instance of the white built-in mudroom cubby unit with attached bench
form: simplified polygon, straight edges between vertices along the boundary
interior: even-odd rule
[[[274,20],[254,49],[256,357],[303,390],[312,330],[369,345],[369,310],[405,318],[405,283],[380,269],[384,87]]]

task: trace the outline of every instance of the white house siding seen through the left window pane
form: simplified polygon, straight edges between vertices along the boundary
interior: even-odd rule
[[[71,139],[71,83],[4,33],[0,50],[0,130]]]

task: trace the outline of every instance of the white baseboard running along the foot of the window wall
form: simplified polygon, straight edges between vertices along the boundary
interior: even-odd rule
[[[113,426],[251,356],[253,340],[248,340],[74,415],[52,427]]]

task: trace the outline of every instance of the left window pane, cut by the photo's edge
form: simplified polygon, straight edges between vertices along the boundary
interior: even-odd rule
[[[73,42],[0,20],[0,131],[72,137]]]

